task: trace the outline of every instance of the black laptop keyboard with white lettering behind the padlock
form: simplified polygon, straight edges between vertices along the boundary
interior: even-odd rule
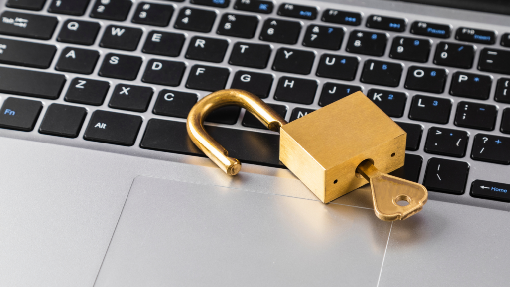
[[[507,178],[470,175],[510,171],[508,31],[314,4],[8,0],[0,127],[203,156],[185,118],[210,91],[248,90],[293,121],[361,90],[407,132],[395,175],[510,202]],[[207,130],[242,162],[285,168],[278,135],[239,107]]]

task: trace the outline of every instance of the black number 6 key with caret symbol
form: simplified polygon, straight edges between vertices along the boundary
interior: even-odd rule
[[[268,42],[295,44],[301,32],[301,23],[268,18],[264,22],[260,39]]]

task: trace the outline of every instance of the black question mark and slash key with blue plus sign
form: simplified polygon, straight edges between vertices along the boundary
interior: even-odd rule
[[[471,158],[510,164],[510,137],[478,133],[473,139]]]

